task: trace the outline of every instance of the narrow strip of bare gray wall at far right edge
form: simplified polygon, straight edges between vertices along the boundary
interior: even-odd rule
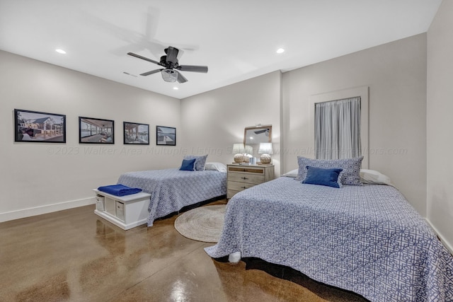
[[[453,1],[428,30],[428,219],[453,251]]]

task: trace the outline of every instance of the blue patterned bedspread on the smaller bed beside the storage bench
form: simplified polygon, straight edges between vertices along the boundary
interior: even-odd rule
[[[120,175],[117,183],[139,187],[151,194],[148,226],[185,206],[226,194],[226,173],[214,170],[180,171],[174,168],[129,172]]]

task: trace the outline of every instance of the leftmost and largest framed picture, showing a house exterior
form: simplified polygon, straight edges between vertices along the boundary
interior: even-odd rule
[[[66,115],[14,109],[14,141],[66,143]]]

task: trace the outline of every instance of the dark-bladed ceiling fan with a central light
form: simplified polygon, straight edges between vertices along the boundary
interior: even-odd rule
[[[136,57],[139,59],[144,59],[145,61],[158,64],[163,66],[162,69],[155,69],[148,72],[144,72],[140,74],[140,76],[149,76],[150,74],[156,74],[157,72],[161,72],[162,79],[166,82],[175,82],[178,83],[185,83],[188,79],[185,79],[185,76],[180,74],[179,71],[191,71],[191,72],[204,72],[207,73],[207,66],[197,66],[197,65],[180,65],[178,63],[178,48],[168,46],[165,49],[166,55],[161,57],[161,61],[157,62],[153,59],[148,59],[147,57],[142,57],[139,54],[134,54],[133,52],[127,52],[132,57]]]

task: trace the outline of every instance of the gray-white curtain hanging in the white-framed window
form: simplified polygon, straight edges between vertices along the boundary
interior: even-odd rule
[[[360,150],[360,97],[316,103],[316,158],[353,158]]]

